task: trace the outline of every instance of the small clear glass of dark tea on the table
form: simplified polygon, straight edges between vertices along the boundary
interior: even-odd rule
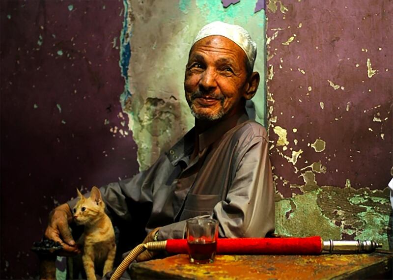
[[[188,254],[191,263],[211,263],[217,251],[218,221],[208,218],[187,220]]]

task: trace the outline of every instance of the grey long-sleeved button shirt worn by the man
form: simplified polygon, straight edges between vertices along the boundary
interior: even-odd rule
[[[198,135],[190,130],[157,162],[132,179],[100,189],[116,221],[161,227],[159,240],[183,238],[186,220],[209,215],[221,237],[264,237],[274,231],[274,188],[267,133],[247,114]],[[71,209],[75,200],[69,201]],[[136,223],[138,221],[138,223]]]

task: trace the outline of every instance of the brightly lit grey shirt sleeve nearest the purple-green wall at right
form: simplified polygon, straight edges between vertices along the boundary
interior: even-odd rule
[[[214,218],[222,237],[264,237],[274,231],[275,223],[268,141],[254,136],[242,150],[226,198],[214,207]]]

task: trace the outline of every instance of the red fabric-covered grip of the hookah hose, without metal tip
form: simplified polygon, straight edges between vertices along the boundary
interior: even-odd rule
[[[320,236],[287,238],[219,238],[217,254],[320,254]],[[188,253],[186,239],[168,239],[166,251]]]

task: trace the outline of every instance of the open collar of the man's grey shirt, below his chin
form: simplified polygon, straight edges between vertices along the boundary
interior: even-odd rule
[[[215,141],[219,140],[227,131],[247,120],[249,120],[247,113],[242,111],[220,121],[203,133],[199,134],[199,153]],[[181,160],[188,164],[188,156],[190,156],[194,150],[195,133],[195,127],[193,127],[186,133],[186,135],[184,135],[184,137],[174,144],[169,151],[166,152],[166,155],[172,165],[177,165]]]

